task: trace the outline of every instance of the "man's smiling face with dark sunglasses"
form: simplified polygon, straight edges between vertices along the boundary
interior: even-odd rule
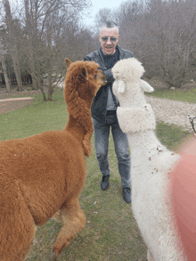
[[[102,28],[99,40],[102,46],[102,52],[105,55],[112,55],[116,51],[118,43],[118,28]],[[114,41],[116,40],[116,41]]]

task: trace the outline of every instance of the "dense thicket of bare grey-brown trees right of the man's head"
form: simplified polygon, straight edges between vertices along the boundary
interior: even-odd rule
[[[180,87],[194,74],[196,3],[127,1],[118,11],[120,40],[143,61],[147,75]]]

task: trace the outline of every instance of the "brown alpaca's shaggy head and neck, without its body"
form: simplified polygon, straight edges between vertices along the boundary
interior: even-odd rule
[[[64,98],[71,121],[77,121],[85,130],[83,147],[86,156],[91,154],[93,123],[90,108],[96,92],[105,84],[106,77],[94,61],[71,62],[65,59],[68,71],[65,77]]]

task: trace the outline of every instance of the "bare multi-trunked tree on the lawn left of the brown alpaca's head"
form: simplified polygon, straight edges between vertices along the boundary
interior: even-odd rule
[[[23,50],[28,50],[28,69],[44,99],[46,100],[47,88],[47,99],[51,100],[54,88],[62,80],[62,74],[65,74],[65,49],[61,42],[64,28],[68,28],[71,23],[72,30],[74,29],[79,12],[86,7],[86,1],[24,0],[24,6]],[[71,46],[73,45],[72,42]]]

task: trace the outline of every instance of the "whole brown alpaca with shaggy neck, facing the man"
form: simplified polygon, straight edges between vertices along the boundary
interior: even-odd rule
[[[71,63],[64,97],[69,121],[65,130],[0,142],[0,260],[24,260],[36,225],[60,210],[63,226],[53,245],[56,260],[86,224],[78,195],[86,181],[93,123],[90,107],[104,84],[94,61]]]

